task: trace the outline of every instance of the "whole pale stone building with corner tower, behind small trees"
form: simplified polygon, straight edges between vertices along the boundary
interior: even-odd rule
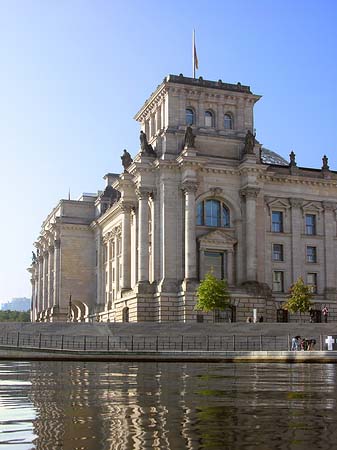
[[[337,320],[337,173],[326,157],[308,169],[263,149],[259,99],[240,83],[166,77],[135,116],[147,141],[131,164],[44,222],[32,320],[284,320],[299,276],[315,320],[325,305]],[[231,290],[220,316],[194,310],[209,270]]]

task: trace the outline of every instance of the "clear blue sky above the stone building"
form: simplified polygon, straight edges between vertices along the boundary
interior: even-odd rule
[[[133,120],[169,73],[251,86],[257,137],[337,170],[337,2],[0,0],[0,301],[30,296],[32,244],[66,198],[138,150]]]

